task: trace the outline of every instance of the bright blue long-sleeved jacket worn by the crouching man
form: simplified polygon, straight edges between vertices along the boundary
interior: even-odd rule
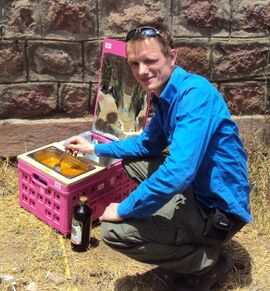
[[[191,187],[198,203],[251,221],[247,156],[237,125],[217,89],[205,78],[176,67],[155,113],[137,137],[95,146],[98,156],[160,154],[164,164],[118,206],[123,218],[142,218]]]

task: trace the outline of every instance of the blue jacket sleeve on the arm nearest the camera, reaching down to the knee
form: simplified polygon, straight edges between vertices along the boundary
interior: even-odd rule
[[[193,89],[178,102],[170,154],[155,173],[119,204],[121,217],[149,216],[188,188],[211,138],[212,97],[211,93]]]

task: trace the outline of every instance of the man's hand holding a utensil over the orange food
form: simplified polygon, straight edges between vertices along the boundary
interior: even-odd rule
[[[91,155],[95,153],[94,144],[91,144],[88,140],[79,135],[73,136],[68,140],[66,150],[69,154],[74,156],[77,156],[79,152]]]

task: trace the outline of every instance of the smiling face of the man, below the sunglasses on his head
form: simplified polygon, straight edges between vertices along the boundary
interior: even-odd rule
[[[175,65],[175,50],[172,49],[170,55],[165,56],[156,38],[149,37],[129,42],[126,53],[136,80],[145,90],[160,96]]]

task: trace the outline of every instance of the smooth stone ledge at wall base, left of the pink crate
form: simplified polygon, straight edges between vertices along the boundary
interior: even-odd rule
[[[0,121],[0,156],[14,157],[91,130],[92,118]]]

